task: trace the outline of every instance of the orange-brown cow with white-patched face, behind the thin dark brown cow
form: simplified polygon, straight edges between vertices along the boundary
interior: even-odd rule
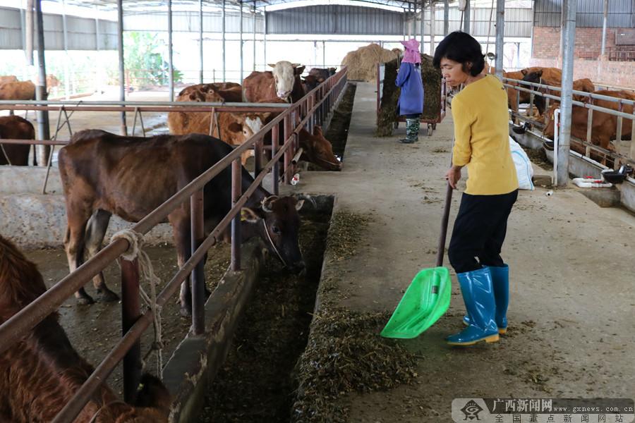
[[[240,85],[238,85],[240,87]],[[193,85],[179,92],[177,102],[219,102],[222,101],[219,92],[234,91],[236,87],[228,90],[217,90],[211,84]],[[238,91],[239,93],[239,91]],[[229,145],[241,145],[262,128],[262,123],[270,114],[237,114],[222,111],[217,114],[217,121],[212,123],[211,112],[185,112],[171,111],[168,114],[168,128],[172,135],[187,135],[192,133],[210,134],[219,137]],[[248,157],[253,155],[253,150],[242,154],[243,165]]]

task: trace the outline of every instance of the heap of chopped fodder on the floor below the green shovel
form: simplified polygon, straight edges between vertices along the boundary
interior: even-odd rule
[[[341,307],[325,307],[313,317],[308,345],[298,361],[292,422],[346,422],[341,396],[385,391],[417,376],[415,357],[379,335],[389,317],[388,312]]]

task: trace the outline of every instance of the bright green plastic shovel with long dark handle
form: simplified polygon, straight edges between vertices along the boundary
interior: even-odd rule
[[[447,312],[452,283],[448,269],[442,265],[451,200],[452,187],[448,183],[437,248],[437,266],[422,269],[415,276],[382,330],[381,336],[385,338],[416,338]]]

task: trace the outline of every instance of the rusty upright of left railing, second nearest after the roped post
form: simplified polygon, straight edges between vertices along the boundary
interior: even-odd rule
[[[190,257],[194,254],[205,238],[205,219],[203,215],[203,190],[196,191],[190,197],[190,228],[191,248]],[[190,275],[192,291],[192,332],[195,335],[205,333],[205,263],[203,260],[196,264]]]

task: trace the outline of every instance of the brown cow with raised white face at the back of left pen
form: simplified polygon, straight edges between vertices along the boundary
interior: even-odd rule
[[[304,66],[297,66],[288,61],[279,61],[270,65],[273,71],[252,72],[243,80],[243,96],[246,102],[257,103],[267,99],[289,100],[297,102],[304,97],[300,75]]]

